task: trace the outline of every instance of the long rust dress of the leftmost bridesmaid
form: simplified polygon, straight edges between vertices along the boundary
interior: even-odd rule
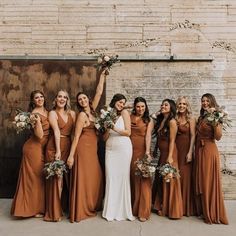
[[[44,136],[39,139],[34,134],[23,146],[23,157],[12,202],[11,214],[17,217],[31,217],[44,214],[44,148],[49,135],[48,117],[38,114],[41,119]]]

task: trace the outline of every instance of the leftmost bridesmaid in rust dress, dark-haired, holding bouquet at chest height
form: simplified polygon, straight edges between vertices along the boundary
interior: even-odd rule
[[[23,146],[23,158],[11,214],[17,217],[42,217],[45,210],[42,169],[44,147],[49,134],[48,111],[45,108],[43,92],[31,92],[28,110],[35,114],[36,124],[30,139]]]

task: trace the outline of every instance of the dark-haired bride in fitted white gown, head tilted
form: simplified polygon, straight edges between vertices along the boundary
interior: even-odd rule
[[[115,94],[110,107],[117,110],[118,119],[114,128],[106,133],[106,191],[102,216],[108,221],[134,220],[131,208],[130,162],[130,115],[123,110],[126,98]]]

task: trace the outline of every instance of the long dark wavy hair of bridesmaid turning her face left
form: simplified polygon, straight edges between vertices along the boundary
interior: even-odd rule
[[[169,114],[168,118],[166,119],[164,126],[161,130],[165,131],[165,133],[167,135],[169,135],[170,120],[176,118],[176,110],[177,109],[176,109],[176,104],[175,104],[174,100],[167,98],[167,99],[164,99],[161,104],[163,104],[164,102],[168,102],[170,104],[170,114]],[[156,125],[154,127],[154,134],[155,135],[157,135],[157,131],[158,131],[163,119],[164,119],[164,115],[162,113],[157,115]]]

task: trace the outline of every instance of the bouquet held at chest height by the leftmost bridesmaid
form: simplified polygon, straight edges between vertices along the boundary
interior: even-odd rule
[[[24,112],[19,109],[16,110],[17,114],[14,118],[13,124],[15,125],[16,132],[19,134],[25,129],[31,129],[35,126],[35,116],[30,112]]]

